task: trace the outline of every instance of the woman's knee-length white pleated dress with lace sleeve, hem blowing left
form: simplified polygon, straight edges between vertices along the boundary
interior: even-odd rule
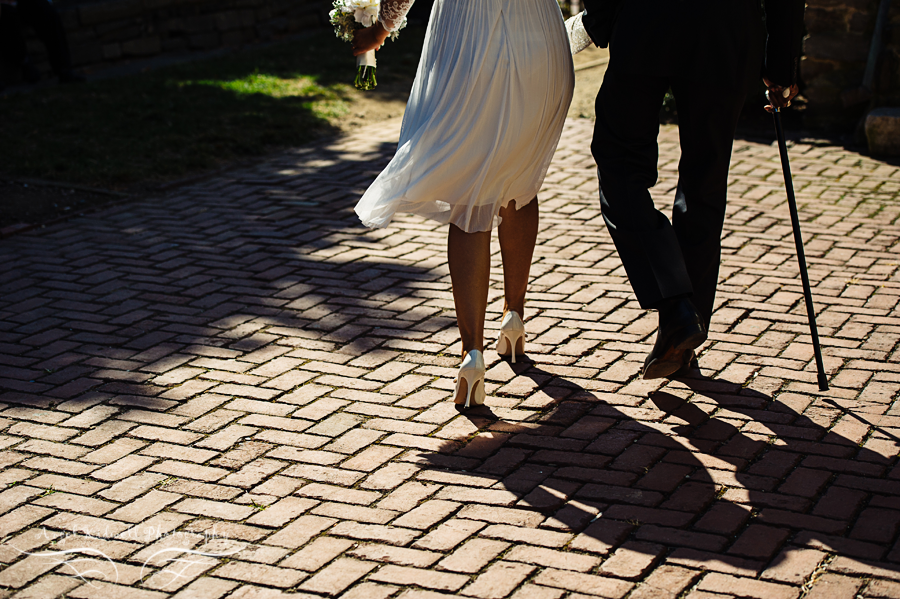
[[[410,0],[382,0],[399,27]],[[397,153],[356,206],[369,227],[411,212],[489,231],[537,195],[575,77],[556,0],[435,0]]]

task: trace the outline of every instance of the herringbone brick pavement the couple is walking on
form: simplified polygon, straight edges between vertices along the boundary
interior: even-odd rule
[[[645,382],[570,121],[532,361],[465,416],[443,227],[352,213],[397,130],[0,242],[0,598],[900,597],[900,170],[792,149],[819,393],[777,150],[736,142],[703,376]]]

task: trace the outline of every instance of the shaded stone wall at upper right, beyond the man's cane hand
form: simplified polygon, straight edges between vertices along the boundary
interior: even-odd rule
[[[883,0],[884,1],[884,0]],[[807,126],[848,132],[870,108],[845,106],[845,90],[862,85],[879,0],[807,0],[801,78]],[[875,106],[900,106],[900,0],[891,0],[875,74]]]

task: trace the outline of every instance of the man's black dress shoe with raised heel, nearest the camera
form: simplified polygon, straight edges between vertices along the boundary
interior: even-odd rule
[[[659,308],[659,330],[653,351],[644,360],[644,378],[659,379],[678,372],[704,341],[706,327],[691,300],[669,300]]]

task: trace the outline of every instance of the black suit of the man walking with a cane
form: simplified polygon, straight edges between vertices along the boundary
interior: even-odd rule
[[[804,1],[583,2],[588,34],[610,49],[591,146],[603,218],[641,306],[690,296],[708,328],[738,116],[762,75],[796,82]],[[682,151],[671,223],[649,192],[669,88]]]

